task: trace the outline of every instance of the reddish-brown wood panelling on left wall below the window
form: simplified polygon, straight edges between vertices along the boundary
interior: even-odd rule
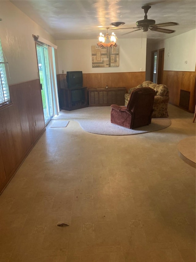
[[[11,106],[0,108],[0,192],[45,131],[40,80],[9,86]]]

